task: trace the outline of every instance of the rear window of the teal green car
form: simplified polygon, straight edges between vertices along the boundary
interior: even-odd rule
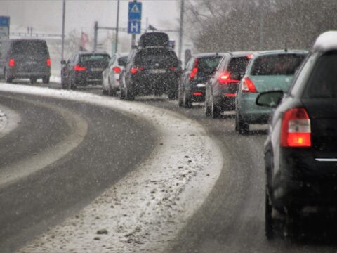
[[[293,75],[305,58],[305,54],[286,53],[260,56],[253,63],[251,74]]]

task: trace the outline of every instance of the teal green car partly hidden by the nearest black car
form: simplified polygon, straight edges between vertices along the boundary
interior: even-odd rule
[[[235,99],[235,130],[249,132],[249,124],[266,124],[271,108],[256,105],[265,91],[288,91],[293,75],[308,51],[263,51],[253,55],[239,84]],[[277,101],[275,101],[277,102]]]

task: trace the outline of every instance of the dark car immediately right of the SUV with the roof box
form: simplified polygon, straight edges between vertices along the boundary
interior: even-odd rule
[[[190,108],[192,102],[204,102],[206,83],[224,55],[224,53],[199,53],[190,58],[180,77],[179,106]]]

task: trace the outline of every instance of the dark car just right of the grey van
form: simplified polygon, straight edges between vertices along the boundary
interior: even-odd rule
[[[102,84],[103,70],[110,56],[107,53],[80,51],[65,62],[61,61],[61,84],[63,89],[76,89],[77,86]]]

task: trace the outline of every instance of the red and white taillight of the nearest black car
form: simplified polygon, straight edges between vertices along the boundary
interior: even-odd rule
[[[304,108],[293,108],[284,112],[281,145],[289,148],[311,147],[310,118]]]

